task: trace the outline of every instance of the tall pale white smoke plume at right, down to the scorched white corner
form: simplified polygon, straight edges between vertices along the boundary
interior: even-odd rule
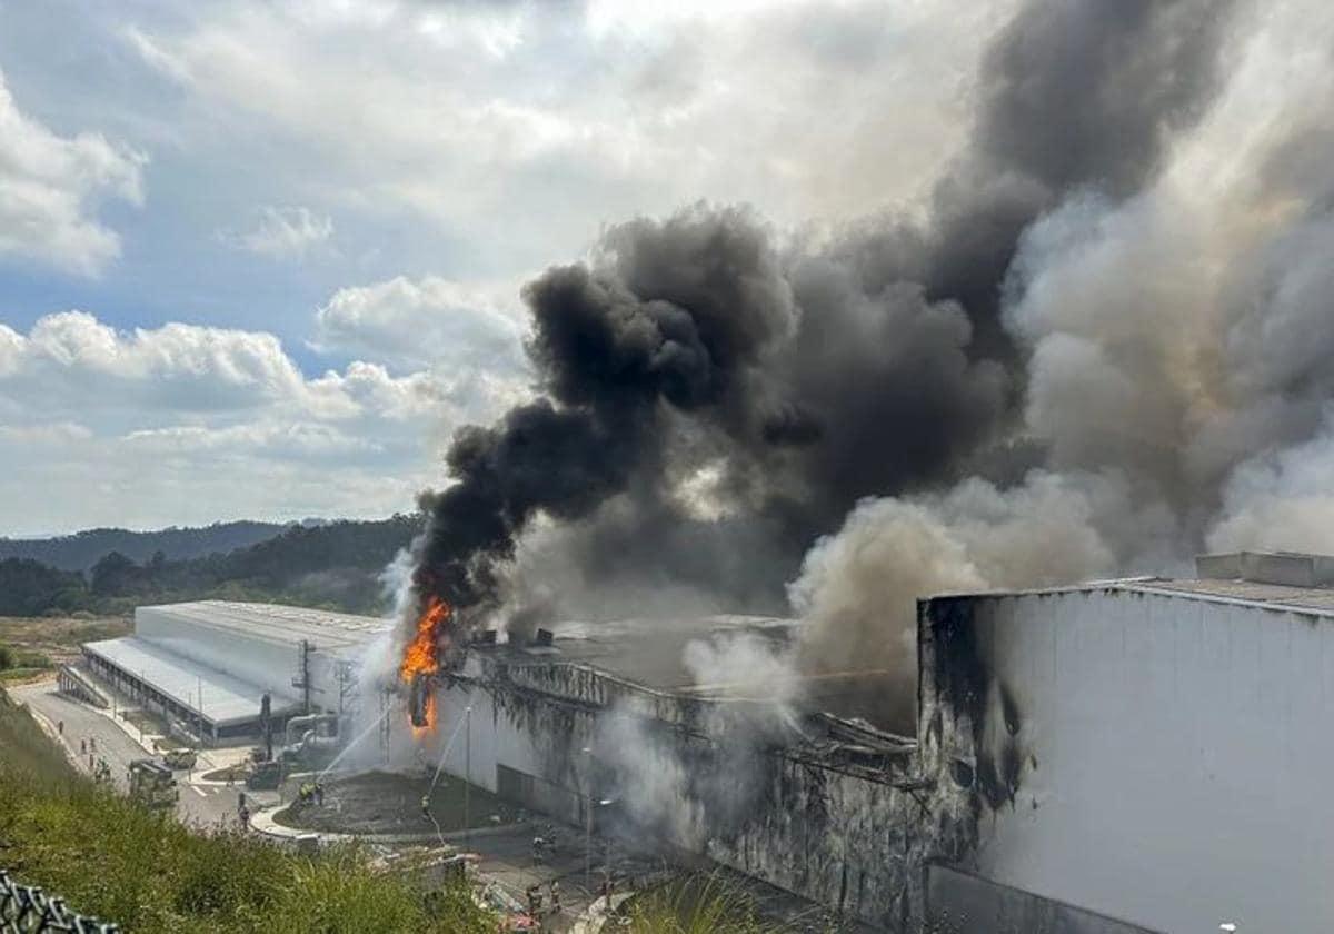
[[[1246,16],[1142,191],[1077,192],[1023,236],[1005,322],[1043,470],[860,503],[790,586],[803,664],[896,666],[906,691],[920,595],[1334,551],[1334,19]]]

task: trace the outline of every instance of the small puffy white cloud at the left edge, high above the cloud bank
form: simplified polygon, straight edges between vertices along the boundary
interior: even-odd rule
[[[97,201],[141,204],[145,161],[101,133],[64,137],[25,116],[0,73],[0,256],[96,275],[120,255]]]

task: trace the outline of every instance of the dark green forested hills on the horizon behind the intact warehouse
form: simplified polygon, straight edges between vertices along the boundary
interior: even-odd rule
[[[384,608],[380,572],[422,530],[422,516],[289,526],[227,554],[133,560],[111,551],[88,570],[29,558],[0,559],[0,615],[125,612],[143,603],[272,600],[350,612]]]

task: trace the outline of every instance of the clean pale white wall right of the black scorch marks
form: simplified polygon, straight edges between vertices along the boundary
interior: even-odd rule
[[[974,620],[1025,762],[983,875],[1174,934],[1334,930],[1334,620],[1118,590]]]

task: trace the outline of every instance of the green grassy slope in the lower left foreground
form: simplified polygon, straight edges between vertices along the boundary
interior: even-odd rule
[[[76,775],[3,691],[0,866],[136,934],[496,930],[462,883],[428,897],[360,849],[301,855],[153,815]]]

